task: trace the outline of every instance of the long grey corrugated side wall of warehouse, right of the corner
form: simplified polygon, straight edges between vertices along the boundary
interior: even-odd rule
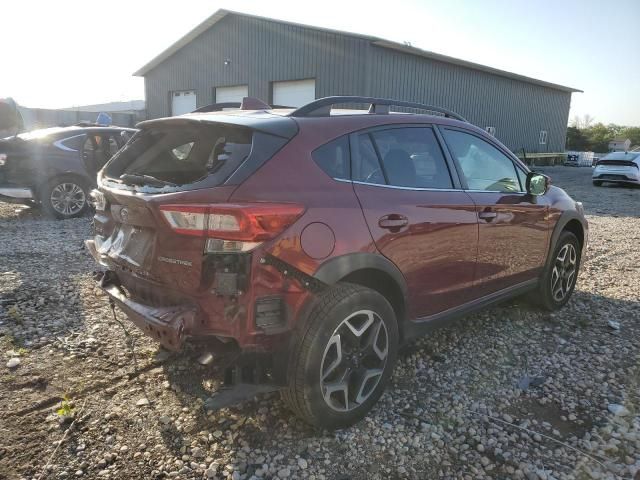
[[[571,94],[491,73],[371,47],[373,96],[440,105],[516,150],[564,151]],[[548,132],[540,145],[540,130]]]

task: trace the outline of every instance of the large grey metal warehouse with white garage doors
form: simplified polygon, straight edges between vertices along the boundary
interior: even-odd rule
[[[574,88],[377,37],[218,10],[135,72],[148,118],[252,96],[300,106],[330,95],[442,106],[512,150],[561,152]]]

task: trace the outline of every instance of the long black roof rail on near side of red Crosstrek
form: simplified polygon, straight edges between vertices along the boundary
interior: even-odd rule
[[[436,107],[435,105],[426,105],[424,103],[404,102],[402,100],[391,100],[389,98],[375,97],[358,97],[358,96],[336,96],[325,97],[314,100],[311,103],[294,110],[289,116],[291,117],[322,117],[331,113],[331,107],[340,103],[368,103],[369,113],[386,114],[389,113],[389,107],[408,107],[416,110],[428,110],[430,112],[441,113],[447,118],[454,118],[461,122],[467,122],[464,117],[458,115],[446,108]]]

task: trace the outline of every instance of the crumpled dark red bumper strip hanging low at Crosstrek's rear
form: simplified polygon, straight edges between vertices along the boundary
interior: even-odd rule
[[[144,305],[128,298],[123,289],[111,282],[110,278],[113,277],[105,274],[99,281],[100,288],[109,299],[146,335],[168,350],[179,351],[184,343],[185,332],[190,331],[198,320],[198,308],[194,305]]]

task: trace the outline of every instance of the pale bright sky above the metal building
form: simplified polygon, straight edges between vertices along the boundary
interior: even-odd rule
[[[576,87],[570,118],[640,126],[640,0],[3,0],[0,97],[50,108],[142,99],[131,74],[218,8]]]

